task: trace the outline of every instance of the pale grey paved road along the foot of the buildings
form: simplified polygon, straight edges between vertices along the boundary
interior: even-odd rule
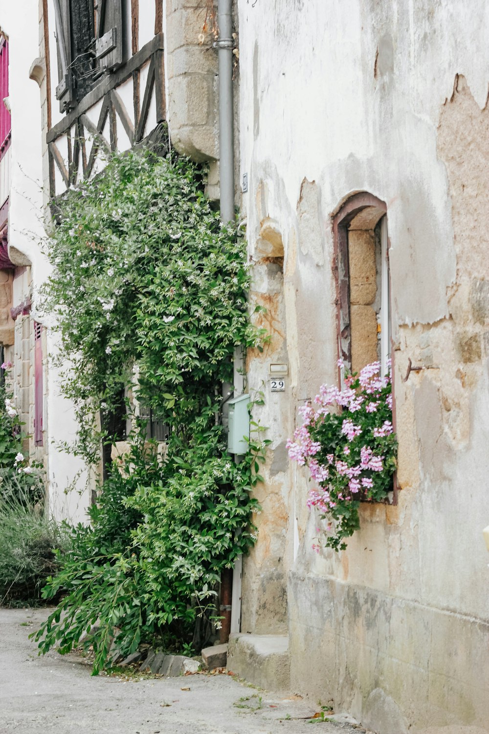
[[[364,731],[333,722],[318,722],[312,729],[300,717],[312,716],[317,710],[314,702],[274,697],[227,675],[139,682],[92,677],[90,667],[78,655],[51,651],[37,656],[36,645],[28,635],[47,614],[45,609],[0,609],[0,734]],[[182,690],[186,686],[190,691]]]

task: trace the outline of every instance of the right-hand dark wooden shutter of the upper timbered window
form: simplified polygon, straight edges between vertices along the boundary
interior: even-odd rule
[[[99,0],[95,55],[103,71],[111,71],[124,61],[122,0]]]

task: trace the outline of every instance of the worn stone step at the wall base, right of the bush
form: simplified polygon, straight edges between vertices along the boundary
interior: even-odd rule
[[[289,691],[289,637],[232,633],[227,669],[268,691]]]

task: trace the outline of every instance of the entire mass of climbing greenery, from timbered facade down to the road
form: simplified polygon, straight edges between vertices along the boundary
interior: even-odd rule
[[[93,462],[100,439],[114,440],[123,391],[128,410],[132,396],[169,427],[161,459],[136,426],[91,526],[73,528],[45,589],[66,595],[37,633],[41,651],[71,650],[97,621],[97,673],[116,634],[130,653],[188,629],[213,608],[221,570],[254,542],[250,490],[267,442],[259,435],[235,464],[221,394],[235,347],[257,346],[262,334],[249,323],[243,244],[185,159],[114,156],[60,205],[49,255],[46,304],[58,317],[63,385],[81,426],[74,450]]]

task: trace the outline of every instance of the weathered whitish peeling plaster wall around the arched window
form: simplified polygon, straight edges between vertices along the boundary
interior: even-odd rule
[[[241,208],[272,335],[248,357],[272,444],[242,631],[288,631],[291,687],[379,734],[487,730],[488,7],[238,7]],[[387,204],[399,504],[362,506],[348,551],[316,554],[308,475],[284,441],[337,380],[331,214],[360,191]]]

